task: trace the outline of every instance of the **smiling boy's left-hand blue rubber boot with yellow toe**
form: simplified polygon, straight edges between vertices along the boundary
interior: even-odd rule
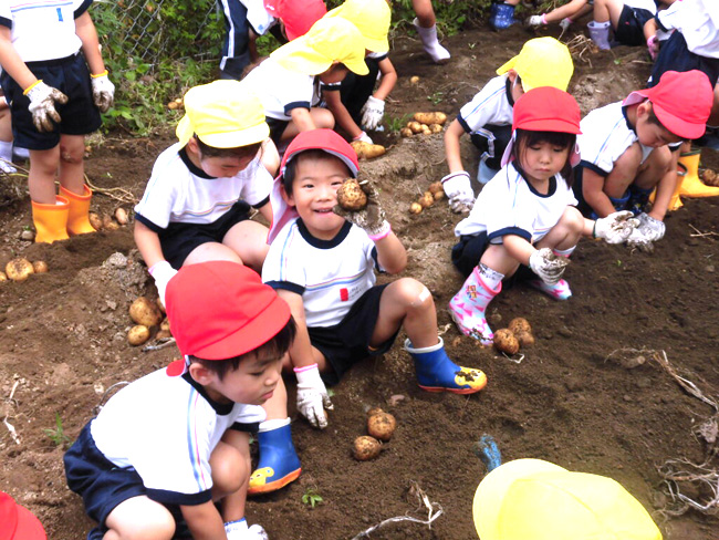
[[[284,424],[280,427],[265,430],[262,430],[262,424],[260,424],[260,432],[257,436],[260,447],[260,460],[257,469],[250,476],[248,495],[277,491],[296,480],[300,472],[302,472],[300,458],[292,444],[290,418],[282,422]]]

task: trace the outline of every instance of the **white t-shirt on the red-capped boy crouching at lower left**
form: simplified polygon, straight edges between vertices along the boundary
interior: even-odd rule
[[[117,467],[133,467],[159,502],[210,500],[209,458],[225,432],[254,432],[267,417],[259,405],[212,402],[189,381],[153,372],[115,394],[90,426],[97,449]]]

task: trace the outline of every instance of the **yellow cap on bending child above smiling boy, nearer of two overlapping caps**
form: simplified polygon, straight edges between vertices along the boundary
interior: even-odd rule
[[[282,45],[270,58],[290,71],[308,75],[327,71],[333,62],[346,65],[357,75],[369,73],[359,30],[346,19],[336,17],[323,17],[308,33]]]

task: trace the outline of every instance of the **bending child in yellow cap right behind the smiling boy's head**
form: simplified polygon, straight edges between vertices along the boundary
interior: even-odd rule
[[[323,18],[242,80],[246,91],[262,100],[278,147],[300,132],[334,127],[332,113],[317,106],[317,85],[338,83],[350,71],[366,75],[364,44],[359,30],[346,19]]]

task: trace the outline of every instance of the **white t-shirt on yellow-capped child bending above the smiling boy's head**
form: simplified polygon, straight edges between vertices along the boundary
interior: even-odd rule
[[[257,94],[269,118],[290,121],[293,108],[310,108],[314,89],[314,75],[290,71],[274,59],[267,59],[241,83]]]

